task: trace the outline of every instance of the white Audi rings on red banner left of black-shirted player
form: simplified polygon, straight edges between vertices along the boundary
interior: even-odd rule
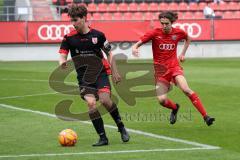
[[[62,40],[72,29],[72,25],[42,25],[38,28],[38,37],[41,40]]]

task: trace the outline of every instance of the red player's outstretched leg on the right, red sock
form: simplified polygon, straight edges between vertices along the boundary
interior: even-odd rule
[[[207,115],[207,112],[206,112],[199,96],[197,95],[197,93],[195,93],[194,91],[192,91],[190,89],[185,77],[183,75],[177,75],[175,77],[175,81],[176,81],[178,87],[183,91],[183,93],[189,97],[189,99],[191,100],[191,102],[195,106],[195,108],[201,113],[201,115],[204,118],[204,120],[206,121],[207,125],[211,125],[214,121],[214,118],[211,118]]]

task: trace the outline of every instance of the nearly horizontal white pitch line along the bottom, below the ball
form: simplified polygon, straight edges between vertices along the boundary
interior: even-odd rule
[[[78,152],[78,153],[46,153],[46,154],[22,154],[3,155],[0,158],[20,158],[20,157],[50,157],[50,156],[73,156],[73,155],[95,155],[95,154],[120,154],[120,153],[144,153],[144,152],[169,152],[169,151],[192,151],[206,148],[175,148],[175,149],[149,149],[149,150],[122,150],[122,151],[102,151],[102,152]]]

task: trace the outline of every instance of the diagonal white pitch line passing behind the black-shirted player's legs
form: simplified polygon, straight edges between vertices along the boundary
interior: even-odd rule
[[[40,114],[40,115],[44,115],[44,116],[48,116],[48,117],[57,118],[56,115],[51,114],[51,113],[46,113],[46,112],[41,112],[41,111],[34,111],[34,110],[14,107],[14,106],[11,106],[11,105],[6,105],[6,104],[0,104],[0,106],[4,107],[4,108],[13,109],[13,110],[19,110],[19,111],[24,111],[24,112],[31,112],[31,113],[35,113],[35,114]],[[84,124],[92,124],[91,122],[88,122],[88,121],[80,121],[80,122],[84,123]],[[107,127],[107,128],[117,129],[117,127],[112,126],[112,125],[104,125],[104,126]],[[220,149],[220,147],[218,147],[218,146],[201,144],[201,143],[192,142],[192,141],[188,141],[188,140],[183,140],[183,139],[179,139],[179,138],[171,138],[171,137],[167,137],[167,136],[162,136],[162,135],[157,135],[157,134],[153,134],[153,133],[143,132],[143,131],[140,131],[140,130],[134,130],[134,129],[127,129],[127,130],[129,132],[131,132],[131,133],[144,135],[144,136],[148,136],[148,137],[153,137],[153,138],[158,138],[158,139],[164,139],[164,140],[178,142],[178,143],[189,144],[189,145],[193,145],[193,146],[196,146],[196,147],[201,147],[202,149]]]

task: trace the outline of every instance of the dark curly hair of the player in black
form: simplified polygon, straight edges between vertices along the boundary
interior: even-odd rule
[[[83,18],[87,16],[87,8],[84,5],[72,4],[68,7],[68,15],[70,17]]]

